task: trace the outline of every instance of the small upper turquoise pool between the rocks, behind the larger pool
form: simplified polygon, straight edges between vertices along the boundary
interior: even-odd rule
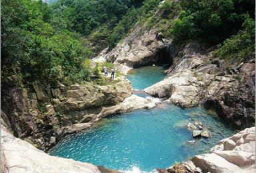
[[[129,71],[127,79],[136,90],[143,90],[165,78],[164,68],[160,66],[146,66]]]

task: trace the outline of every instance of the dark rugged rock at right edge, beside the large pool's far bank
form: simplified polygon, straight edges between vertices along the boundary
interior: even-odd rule
[[[255,82],[252,81],[255,81],[253,63],[241,64],[239,75],[215,77],[215,81],[208,86],[205,106],[213,108],[233,128],[255,126],[255,105],[252,104],[255,102]]]

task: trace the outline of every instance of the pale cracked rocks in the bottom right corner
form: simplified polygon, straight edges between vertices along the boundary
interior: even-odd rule
[[[167,170],[175,172],[186,168],[187,172],[249,173],[256,172],[255,166],[255,127],[251,127],[220,140],[209,154],[194,156]]]

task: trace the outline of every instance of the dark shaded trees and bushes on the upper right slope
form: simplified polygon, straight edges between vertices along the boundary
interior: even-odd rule
[[[254,58],[255,1],[166,0],[157,26],[175,43],[199,39],[219,44],[215,55],[241,61]]]

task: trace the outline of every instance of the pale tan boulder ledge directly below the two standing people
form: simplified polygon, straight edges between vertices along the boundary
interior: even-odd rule
[[[131,95],[131,85],[128,81],[120,81],[115,85],[97,86],[72,85],[63,90],[63,100],[54,99],[53,106],[59,112],[84,110],[103,105],[115,105]]]

